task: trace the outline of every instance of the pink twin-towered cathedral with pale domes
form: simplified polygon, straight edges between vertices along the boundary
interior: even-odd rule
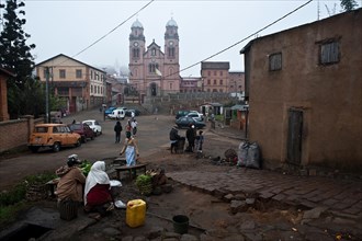
[[[136,20],[129,34],[129,84],[145,96],[162,96],[180,92],[178,24],[171,19],[166,24],[163,51],[161,46],[146,46],[143,24]]]

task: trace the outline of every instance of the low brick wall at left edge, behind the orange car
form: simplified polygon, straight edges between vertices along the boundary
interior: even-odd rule
[[[44,123],[44,118],[34,119],[23,116],[20,119],[0,122],[0,153],[16,147],[26,146],[34,125]]]

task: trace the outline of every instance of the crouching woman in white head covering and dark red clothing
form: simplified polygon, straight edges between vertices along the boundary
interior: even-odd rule
[[[110,188],[110,177],[105,172],[104,161],[94,162],[86,180],[84,210],[98,211],[101,216],[105,216],[108,210],[113,209]]]

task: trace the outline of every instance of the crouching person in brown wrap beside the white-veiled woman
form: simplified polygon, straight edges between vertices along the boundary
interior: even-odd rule
[[[83,200],[83,184],[86,183],[86,176],[78,168],[81,161],[77,154],[68,157],[67,165],[59,168],[55,173],[60,177],[57,184],[57,191],[55,194],[58,196],[58,200]]]

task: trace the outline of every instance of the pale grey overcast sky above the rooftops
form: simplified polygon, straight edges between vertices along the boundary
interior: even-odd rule
[[[308,1],[25,0],[24,2],[23,10],[26,12],[24,30],[31,35],[27,44],[36,45],[33,50],[36,64],[58,54],[65,54],[98,68],[106,66],[115,69],[127,68],[128,37],[131,26],[136,19],[144,26],[146,46],[155,39],[165,51],[166,23],[173,18],[179,26],[180,69],[185,69],[180,74],[200,77],[201,66],[196,65],[197,62],[238,42],[241,43],[207,61],[229,61],[230,71],[244,71],[244,56],[239,50],[256,37],[253,34]],[[362,0],[358,3],[361,7]],[[310,23],[318,18],[321,20],[340,11],[339,0],[314,0],[260,32],[258,36]],[[131,18],[135,13],[137,14]],[[127,20],[128,18],[131,19]],[[247,38],[250,35],[252,37]],[[99,42],[94,44],[97,41]],[[94,45],[89,47],[92,44]],[[195,66],[189,68],[193,65]]]

